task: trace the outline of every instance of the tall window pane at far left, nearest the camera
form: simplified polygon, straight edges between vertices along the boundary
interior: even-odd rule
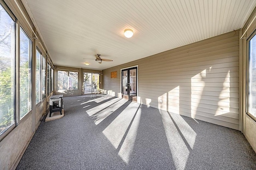
[[[15,124],[15,22],[0,5],[0,135]]]

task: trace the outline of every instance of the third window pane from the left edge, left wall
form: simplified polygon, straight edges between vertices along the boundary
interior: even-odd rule
[[[41,102],[41,67],[42,55],[36,50],[36,104]]]

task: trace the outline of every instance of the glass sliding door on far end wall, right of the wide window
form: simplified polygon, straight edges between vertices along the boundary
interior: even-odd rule
[[[100,89],[100,74],[84,72],[84,94],[96,93]]]

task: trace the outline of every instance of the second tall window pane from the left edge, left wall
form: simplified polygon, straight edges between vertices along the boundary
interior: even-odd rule
[[[20,28],[20,119],[32,106],[31,73],[32,73],[32,41]]]

